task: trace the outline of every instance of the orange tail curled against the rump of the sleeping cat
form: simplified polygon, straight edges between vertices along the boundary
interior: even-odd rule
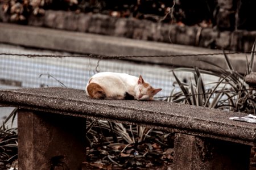
[[[87,86],[87,91],[90,97],[93,99],[105,99],[106,94],[103,88],[97,83],[90,83]]]

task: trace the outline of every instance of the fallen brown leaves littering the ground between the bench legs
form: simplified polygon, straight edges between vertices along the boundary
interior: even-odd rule
[[[130,146],[109,145],[87,149],[87,169],[167,169],[172,167],[173,148],[157,143],[140,143]]]

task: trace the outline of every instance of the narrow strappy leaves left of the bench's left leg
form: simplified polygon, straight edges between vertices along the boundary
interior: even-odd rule
[[[13,128],[16,110],[11,112],[0,127],[0,169],[15,169],[17,165],[18,131]]]

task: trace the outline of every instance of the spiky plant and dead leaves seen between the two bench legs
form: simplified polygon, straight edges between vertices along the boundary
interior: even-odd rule
[[[109,121],[88,121],[87,168],[168,167],[173,135],[162,130]]]

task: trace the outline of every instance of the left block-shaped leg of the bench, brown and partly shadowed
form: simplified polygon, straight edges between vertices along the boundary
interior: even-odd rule
[[[19,110],[19,169],[81,169],[85,129],[85,118]]]

